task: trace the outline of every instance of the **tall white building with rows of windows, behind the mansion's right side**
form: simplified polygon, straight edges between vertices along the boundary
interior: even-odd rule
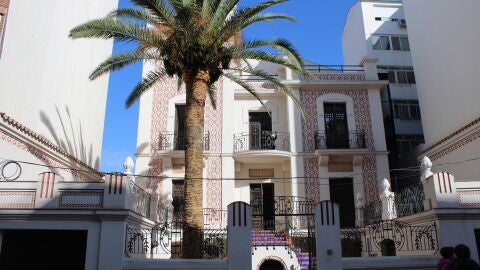
[[[377,58],[379,78],[390,82],[381,95],[391,169],[416,166],[412,150],[423,142],[407,29],[400,0],[359,0],[348,12],[342,35],[344,63]],[[394,188],[409,182],[398,172],[391,177]]]

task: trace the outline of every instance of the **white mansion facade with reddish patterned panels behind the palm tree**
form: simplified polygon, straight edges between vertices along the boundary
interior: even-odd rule
[[[262,107],[241,87],[221,80],[217,109],[208,103],[205,112],[204,208],[226,209],[234,201],[268,204],[277,196],[332,199],[342,202],[345,220],[354,222],[355,196],[378,198],[378,183],[389,171],[380,103],[387,82],[378,80],[374,59],[363,63],[307,65],[316,80],[255,63],[294,89],[305,118],[264,81],[243,76]],[[158,193],[164,202],[173,196],[174,206],[182,196],[184,105],[184,90],[169,80],[142,96],[139,114],[136,174],[160,176]],[[147,186],[152,179],[145,180]]]

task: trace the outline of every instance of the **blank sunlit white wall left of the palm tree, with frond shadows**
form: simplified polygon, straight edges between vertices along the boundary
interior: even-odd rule
[[[68,34],[117,4],[117,0],[10,1],[0,57],[0,111],[52,142],[55,137],[65,144],[70,141],[74,147],[69,152],[97,168],[108,76],[90,81],[88,75],[111,54],[112,41],[72,40]],[[5,154],[14,157],[16,152]]]

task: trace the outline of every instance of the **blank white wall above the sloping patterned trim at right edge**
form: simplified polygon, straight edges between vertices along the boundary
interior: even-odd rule
[[[429,146],[480,117],[480,1],[405,0],[404,4]]]

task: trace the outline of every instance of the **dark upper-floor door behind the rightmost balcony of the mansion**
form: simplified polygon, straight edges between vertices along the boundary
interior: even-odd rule
[[[348,148],[347,108],[345,103],[324,103],[327,148]]]

